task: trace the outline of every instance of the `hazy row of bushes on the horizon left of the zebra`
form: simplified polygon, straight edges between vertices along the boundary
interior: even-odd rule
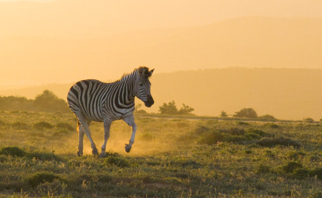
[[[0,96],[1,111],[69,112],[66,101],[44,90],[35,99],[21,96]]]

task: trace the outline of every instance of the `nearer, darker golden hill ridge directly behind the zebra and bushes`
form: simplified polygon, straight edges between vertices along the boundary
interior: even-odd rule
[[[193,113],[202,116],[219,116],[222,110],[233,115],[251,107],[259,115],[269,114],[278,119],[322,118],[322,70],[206,69],[155,74],[150,80],[155,104],[151,108],[142,107],[148,112],[157,113],[164,102],[174,100],[178,108],[185,103],[195,108]],[[34,98],[49,89],[65,99],[72,84],[0,90],[0,95]]]

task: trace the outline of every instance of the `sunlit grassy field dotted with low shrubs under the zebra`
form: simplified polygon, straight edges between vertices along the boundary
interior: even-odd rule
[[[136,115],[77,157],[72,114],[0,112],[0,197],[321,197],[322,125]],[[103,124],[92,123],[103,143]]]

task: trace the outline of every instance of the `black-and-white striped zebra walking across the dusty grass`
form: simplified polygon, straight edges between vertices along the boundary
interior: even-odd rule
[[[78,81],[71,87],[67,94],[67,103],[78,119],[77,156],[83,155],[84,134],[90,141],[93,155],[99,154],[88,128],[91,121],[103,122],[104,125],[104,143],[101,147],[100,157],[106,156],[106,142],[109,138],[111,122],[120,119],[132,127],[129,144],[125,144],[125,151],[130,152],[136,133],[133,116],[134,97],[142,100],[147,107],[154,104],[149,81],[153,71],[154,69],[149,71],[147,67],[139,67],[130,74],[124,74],[121,79],[115,82],[104,83],[88,79]]]

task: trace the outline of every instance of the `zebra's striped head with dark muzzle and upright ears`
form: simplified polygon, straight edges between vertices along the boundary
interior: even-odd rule
[[[147,107],[151,107],[154,104],[154,100],[151,96],[151,83],[149,77],[152,75],[154,69],[149,71],[147,67],[140,67],[137,72],[138,78],[135,82],[136,97],[142,100]]]

